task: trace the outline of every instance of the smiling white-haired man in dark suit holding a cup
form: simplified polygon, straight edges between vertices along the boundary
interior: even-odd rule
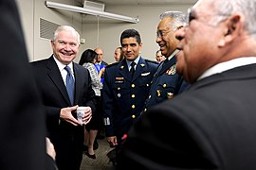
[[[59,26],[51,45],[50,58],[31,64],[43,97],[48,136],[56,149],[57,165],[60,170],[79,170],[84,126],[77,120],[76,110],[78,105],[86,107],[83,121],[88,123],[95,110],[95,93],[88,70],[73,62],[80,46],[78,32],[71,26]],[[74,86],[71,92],[70,79]]]

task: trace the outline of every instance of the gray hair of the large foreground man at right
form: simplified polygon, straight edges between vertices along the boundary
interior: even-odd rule
[[[235,12],[241,12],[246,18],[244,29],[249,35],[256,33],[256,0],[211,0],[211,3],[217,12],[215,24],[227,19]],[[253,38],[256,39],[256,34]]]

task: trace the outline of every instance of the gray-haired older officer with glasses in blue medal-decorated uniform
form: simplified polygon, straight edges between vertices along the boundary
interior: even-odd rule
[[[156,42],[166,59],[157,68],[144,111],[166,99],[172,99],[174,95],[183,92],[188,87],[183,77],[176,73],[175,57],[178,52],[175,49],[179,41],[174,33],[184,26],[184,16],[180,11],[167,11],[160,15],[161,21],[157,26]]]

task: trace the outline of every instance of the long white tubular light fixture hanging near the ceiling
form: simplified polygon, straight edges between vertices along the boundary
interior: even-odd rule
[[[115,19],[115,20],[120,20],[128,23],[138,23],[137,18],[132,18],[124,15],[119,15],[115,13],[110,13],[110,12],[104,12],[104,11],[98,11],[98,10],[93,10],[93,9],[88,9],[88,8],[81,8],[81,7],[76,7],[76,6],[70,6],[70,5],[65,5],[65,4],[60,4],[60,3],[55,3],[55,2],[50,2],[46,1],[46,7],[48,8],[60,8],[64,10],[69,10],[69,11],[74,11],[74,12],[80,12],[80,13],[86,13],[90,15],[96,15],[96,16],[101,16],[105,18],[110,18],[110,19]]]

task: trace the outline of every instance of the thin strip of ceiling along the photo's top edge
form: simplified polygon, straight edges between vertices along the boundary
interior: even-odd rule
[[[83,4],[84,0],[75,0]],[[114,5],[172,5],[172,4],[194,4],[197,0],[90,0],[103,3],[105,6]]]

